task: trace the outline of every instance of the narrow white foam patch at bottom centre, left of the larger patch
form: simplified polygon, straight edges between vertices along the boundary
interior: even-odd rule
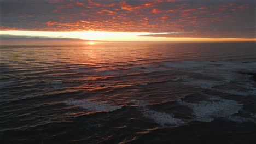
[[[165,112],[149,110],[146,107],[141,109],[143,115],[152,119],[159,125],[178,125],[184,123],[181,119],[175,118],[174,115]]]

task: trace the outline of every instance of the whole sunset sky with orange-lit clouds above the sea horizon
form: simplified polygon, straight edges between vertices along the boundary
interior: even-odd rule
[[[0,0],[0,39],[255,41],[255,4],[253,0]]]

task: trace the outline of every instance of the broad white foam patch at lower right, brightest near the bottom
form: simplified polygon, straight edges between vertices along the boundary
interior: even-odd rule
[[[242,109],[242,104],[234,100],[227,100],[220,97],[211,97],[210,100],[212,101],[202,101],[201,103],[187,103],[182,100],[177,102],[188,105],[196,115],[194,120],[202,122],[211,122],[216,117],[227,117],[238,113]]]

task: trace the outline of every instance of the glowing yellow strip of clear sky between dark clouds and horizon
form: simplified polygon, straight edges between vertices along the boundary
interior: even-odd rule
[[[84,40],[103,40],[103,41],[255,41],[256,39],[244,38],[166,38],[148,37],[138,35],[148,35],[148,32],[48,32],[48,31],[0,31],[0,35],[19,35],[19,36],[40,36],[40,37],[61,37],[78,38]]]

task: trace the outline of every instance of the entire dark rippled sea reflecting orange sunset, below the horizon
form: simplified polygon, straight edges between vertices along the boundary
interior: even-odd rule
[[[1,143],[254,143],[255,43],[1,46]]]

